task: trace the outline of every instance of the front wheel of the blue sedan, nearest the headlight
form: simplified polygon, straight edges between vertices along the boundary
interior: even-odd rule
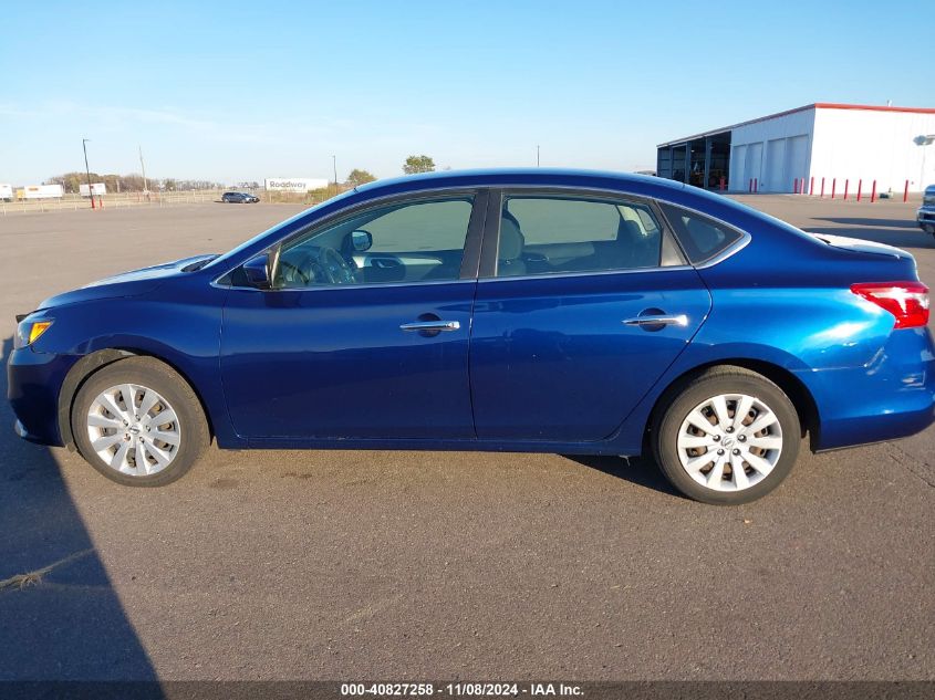
[[[162,487],[181,478],[210,442],[195,391],[152,357],[121,359],[91,375],[72,404],[71,426],[85,461],[131,487]]]

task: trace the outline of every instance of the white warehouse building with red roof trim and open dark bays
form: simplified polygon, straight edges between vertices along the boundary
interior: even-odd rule
[[[815,103],[657,146],[656,174],[708,189],[902,196],[935,184],[935,108]]]

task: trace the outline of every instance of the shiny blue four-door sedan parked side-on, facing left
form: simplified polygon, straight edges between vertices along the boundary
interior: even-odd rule
[[[28,440],[128,485],[221,448],[652,455],[707,503],[800,445],[932,424],[908,253],[655,178],[444,173],[357,187],[222,255],[19,318]]]

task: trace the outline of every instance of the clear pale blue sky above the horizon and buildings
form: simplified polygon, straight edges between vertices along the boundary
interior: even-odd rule
[[[812,102],[935,106],[931,2],[11,2],[0,182],[652,168]]]

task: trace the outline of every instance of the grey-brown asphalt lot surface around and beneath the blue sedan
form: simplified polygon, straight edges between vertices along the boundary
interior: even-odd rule
[[[740,199],[935,285],[910,205]],[[4,358],[41,299],[298,210],[0,217]],[[12,422],[0,403],[0,579],[35,585],[0,591],[0,679],[935,679],[933,429],[714,508],[560,455],[211,448],[127,489]]]

